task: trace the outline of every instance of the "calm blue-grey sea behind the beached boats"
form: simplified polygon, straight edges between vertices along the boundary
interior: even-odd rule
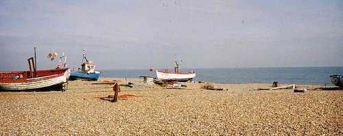
[[[333,85],[330,75],[342,74],[343,67],[307,67],[307,68],[192,68],[182,71],[197,72],[193,81],[211,83],[273,83],[285,84]],[[139,78],[156,77],[156,72],[144,70],[99,70],[101,77]]]

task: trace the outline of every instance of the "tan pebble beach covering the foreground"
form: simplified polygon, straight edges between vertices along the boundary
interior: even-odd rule
[[[100,99],[114,94],[116,103]],[[0,92],[0,135],[343,135],[343,90],[299,85],[216,84],[223,91],[161,87],[143,79],[69,81],[68,90]]]

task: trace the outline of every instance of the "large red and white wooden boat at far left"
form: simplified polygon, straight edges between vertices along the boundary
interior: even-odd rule
[[[58,66],[58,68],[52,70],[36,70],[34,58],[30,57],[27,61],[29,62],[29,71],[0,72],[0,90],[67,90],[67,81],[70,76],[69,68],[60,68]]]

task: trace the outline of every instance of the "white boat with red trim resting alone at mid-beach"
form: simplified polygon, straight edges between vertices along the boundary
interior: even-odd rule
[[[182,60],[180,61],[182,62]],[[176,67],[174,72],[170,72],[169,70],[165,71],[158,71],[156,70],[157,79],[160,81],[192,81],[194,77],[196,77],[196,72],[180,72],[180,63],[176,62]]]

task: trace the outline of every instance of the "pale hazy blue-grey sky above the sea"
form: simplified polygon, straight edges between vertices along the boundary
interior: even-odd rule
[[[0,1],[0,71],[343,66],[343,1]]]

